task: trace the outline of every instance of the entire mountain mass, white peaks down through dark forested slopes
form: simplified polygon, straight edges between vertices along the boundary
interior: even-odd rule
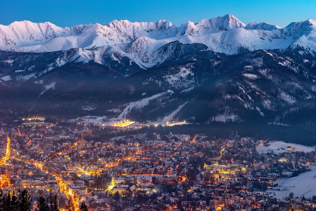
[[[0,51],[0,108],[65,118],[117,118],[124,112],[126,118],[159,122],[175,113],[175,120],[201,125],[313,127],[314,26],[308,20],[280,29],[224,16],[179,27],[166,21],[51,26],[51,36],[32,42],[17,33],[11,44],[20,44]],[[115,33],[120,38],[55,49],[65,37],[88,39],[95,27],[108,33],[102,39]],[[47,50],[51,42],[54,48]]]

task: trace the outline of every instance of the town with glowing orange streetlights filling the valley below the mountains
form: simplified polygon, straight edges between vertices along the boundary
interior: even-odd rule
[[[149,132],[163,126],[170,125],[84,118],[3,124],[3,194],[27,189],[34,208],[40,196],[53,196],[61,211],[69,210],[67,203],[78,211],[82,202],[89,211],[315,208],[315,187],[299,195],[280,184],[316,170],[314,148]],[[285,147],[273,150],[277,144]]]

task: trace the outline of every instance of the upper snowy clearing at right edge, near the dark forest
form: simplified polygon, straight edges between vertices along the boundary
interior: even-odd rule
[[[256,147],[257,152],[259,154],[261,154],[262,152],[268,153],[268,152],[270,152],[270,150],[273,150],[275,154],[280,154],[280,153],[288,151],[288,150],[286,150],[286,148],[288,146],[290,146],[292,148],[296,148],[299,151],[305,151],[305,152],[311,152],[311,151],[315,150],[314,147],[308,148],[307,146],[304,146],[304,145],[285,143],[282,141],[269,142],[269,144],[270,144],[270,146],[268,146],[268,147],[264,146],[263,144],[257,146]],[[283,148],[283,150],[281,150],[281,148]]]

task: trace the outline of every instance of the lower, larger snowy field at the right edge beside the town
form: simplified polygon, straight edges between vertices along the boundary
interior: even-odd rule
[[[289,193],[293,192],[294,197],[304,195],[305,198],[313,197],[316,195],[316,166],[309,167],[312,171],[307,171],[305,173],[299,174],[299,176],[291,177],[291,178],[280,178],[275,183],[278,183],[277,189],[268,190],[267,192],[276,193],[276,198],[283,199],[283,197],[289,196]]]

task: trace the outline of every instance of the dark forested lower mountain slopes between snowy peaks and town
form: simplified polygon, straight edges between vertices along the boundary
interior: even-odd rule
[[[310,114],[315,110],[315,60],[297,54],[259,50],[227,56],[203,44],[172,42],[159,49],[161,57],[168,53],[161,64],[142,69],[126,57],[117,61],[105,56],[100,57],[104,64],[86,63],[74,56],[77,52],[2,52],[0,106],[30,113],[115,117],[111,109],[122,110],[127,103],[172,90],[134,106],[129,116],[158,120],[187,102],[175,118],[206,124],[314,124]],[[84,109],[90,105],[95,109]]]

